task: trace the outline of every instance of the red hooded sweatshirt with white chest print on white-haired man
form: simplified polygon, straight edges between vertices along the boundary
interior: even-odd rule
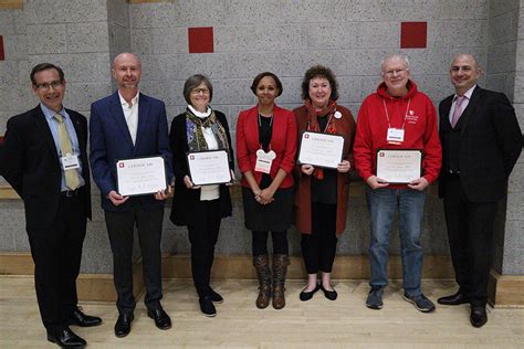
[[[431,183],[439,176],[442,165],[437,112],[431,99],[408,81],[408,93],[400,98],[387,93],[386,83],[378,85],[377,92],[367,96],[358,110],[357,133],[353,147],[357,173],[366,181],[377,174],[378,149],[422,150],[422,177]],[[409,104],[409,109],[408,109]],[[387,109],[387,113],[386,113]],[[389,125],[388,125],[389,115]],[[404,141],[391,145],[386,140],[387,130],[402,128]],[[387,188],[407,188],[395,184]]]

